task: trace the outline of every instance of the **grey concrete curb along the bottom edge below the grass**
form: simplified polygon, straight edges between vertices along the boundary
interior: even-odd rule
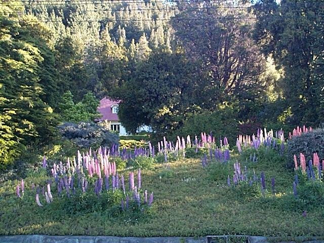
[[[206,237],[117,237],[117,236],[56,236],[56,235],[0,235],[0,243],[218,243],[235,242],[230,238],[247,239],[249,243],[324,243],[324,239],[296,237],[296,241],[280,241],[279,237],[248,235],[209,235]],[[239,240],[237,242],[242,242]]]

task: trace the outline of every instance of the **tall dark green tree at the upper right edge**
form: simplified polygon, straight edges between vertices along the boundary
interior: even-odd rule
[[[319,74],[322,50],[317,46],[322,41],[321,5],[320,0],[286,0],[280,4],[262,0],[255,4],[258,20],[254,36],[263,53],[284,71],[278,86],[286,102],[280,106],[291,110],[287,121],[295,126],[316,126],[323,118]]]

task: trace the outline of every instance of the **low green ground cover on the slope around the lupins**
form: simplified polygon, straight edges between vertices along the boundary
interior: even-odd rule
[[[250,152],[233,153],[225,164],[209,161],[205,168],[200,158],[184,158],[142,170],[142,186],[154,192],[153,204],[144,212],[91,210],[95,203],[88,205],[88,210],[74,212],[73,208],[65,208],[63,199],[38,207],[35,194],[30,192],[31,183],[44,181],[47,175],[42,170],[29,172],[22,199],[15,193],[18,181],[0,185],[0,234],[324,236],[322,194],[316,197],[313,186],[305,182],[298,192],[306,190],[310,197],[295,198],[292,189],[295,172],[287,170],[284,156],[263,148],[257,151],[258,161],[252,162]],[[236,159],[241,168],[247,166],[249,173],[255,170],[259,178],[262,171],[265,173],[264,195],[260,182],[253,186],[227,185],[227,176],[233,175]],[[119,174],[128,173],[119,171]],[[275,178],[274,195],[271,178]]]

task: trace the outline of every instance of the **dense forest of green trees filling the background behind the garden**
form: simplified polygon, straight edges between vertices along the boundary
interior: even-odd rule
[[[322,0],[1,0],[0,164],[121,100],[130,132],[324,122]]]

